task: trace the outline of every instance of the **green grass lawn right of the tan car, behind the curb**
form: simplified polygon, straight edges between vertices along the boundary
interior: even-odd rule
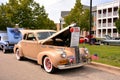
[[[90,54],[98,54],[95,62],[120,67],[120,46],[80,44],[89,49]]]

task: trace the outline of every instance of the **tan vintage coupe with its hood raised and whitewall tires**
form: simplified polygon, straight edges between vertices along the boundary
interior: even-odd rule
[[[36,60],[48,73],[54,72],[56,68],[70,69],[90,63],[87,48],[71,46],[71,31],[73,30],[70,28],[73,27],[68,26],[59,32],[21,30],[23,39],[14,46],[16,58],[21,60],[22,57],[26,57]]]

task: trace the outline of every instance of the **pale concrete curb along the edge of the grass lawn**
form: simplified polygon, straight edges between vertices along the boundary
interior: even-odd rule
[[[119,67],[114,67],[114,66],[110,66],[107,64],[97,63],[97,62],[91,62],[90,65],[97,68],[97,69],[104,70],[104,71],[107,71],[110,73],[114,73],[116,75],[120,75],[120,68]]]

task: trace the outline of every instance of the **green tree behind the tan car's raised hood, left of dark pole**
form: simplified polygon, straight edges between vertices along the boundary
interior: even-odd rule
[[[81,0],[76,0],[75,6],[71,9],[70,13],[64,17],[66,26],[75,22],[80,26],[81,30],[89,30],[89,16],[90,11],[88,9],[83,10]]]

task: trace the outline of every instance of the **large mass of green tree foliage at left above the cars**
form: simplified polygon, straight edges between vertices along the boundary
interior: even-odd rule
[[[55,24],[48,18],[44,6],[34,0],[9,0],[0,5],[0,29],[14,27],[19,24],[23,28],[54,29]]]

